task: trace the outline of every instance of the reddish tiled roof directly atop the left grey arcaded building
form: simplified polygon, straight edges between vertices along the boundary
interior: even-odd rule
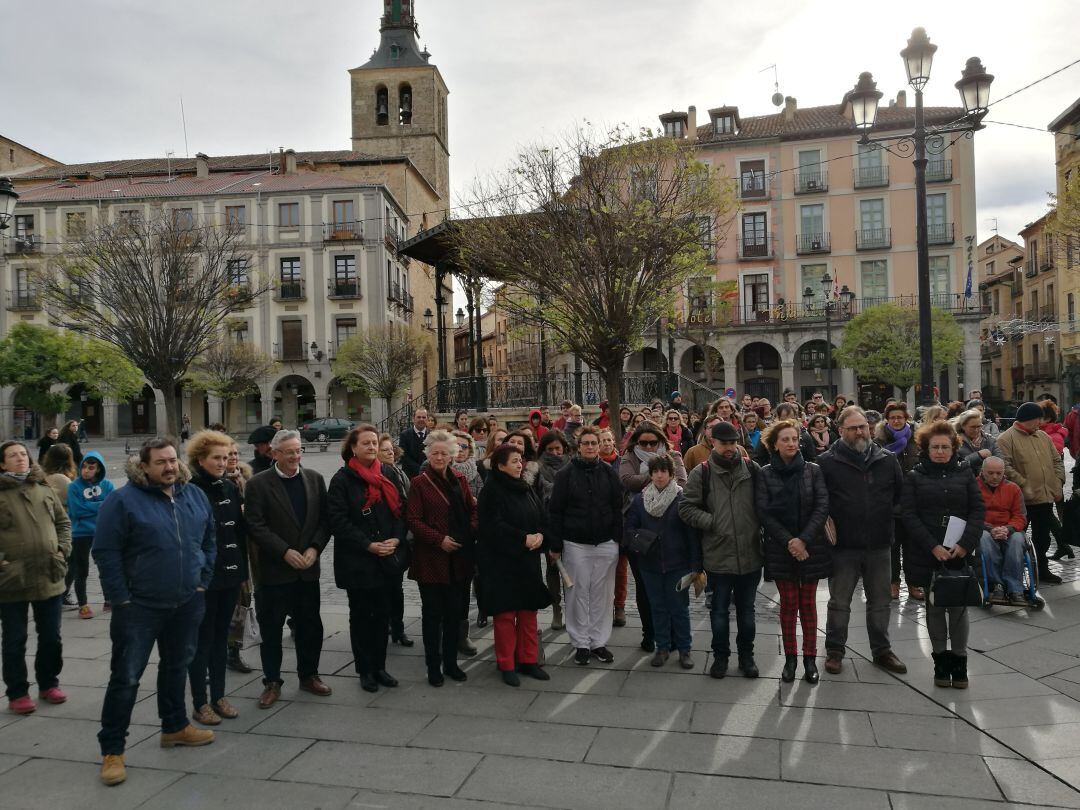
[[[210,177],[124,177],[85,183],[56,181],[19,191],[19,205],[76,200],[125,200],[146,198],[198,198],[214,194],[287,193],[328,189],[374,188],[318,172],[270,174],[269,172],[218,172]]]

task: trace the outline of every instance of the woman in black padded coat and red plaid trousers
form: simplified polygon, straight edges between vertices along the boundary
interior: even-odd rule
[[[780,591],[780,627],[784,637],[784,670],[781,677],[795,680],[798,647],[796,617],[802,622],[804,678],[819,679],[818,580],[833,573],[833,550],[825,540],[828,489],[818,464],[806,461],[799,450],[800,429],[794,420],[769,426],[761,445],[770,461],[761,468],[754,501],[765,528],[766,567]]]

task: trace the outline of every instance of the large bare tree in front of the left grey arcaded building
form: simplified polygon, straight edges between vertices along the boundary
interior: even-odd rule
[[[240,235],[159,210],[70,235],[37,279],[54,324],[117,347],[164,394],[166,433],[179,428],[175,390],[192,361],[269,288]]]

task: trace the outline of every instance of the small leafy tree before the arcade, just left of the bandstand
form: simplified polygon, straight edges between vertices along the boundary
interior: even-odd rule
[[[431,337],[411,326],[386,324],[356,333],[338,347],[334,374],[351,391],[390,401],[408,388],[431,355]]]

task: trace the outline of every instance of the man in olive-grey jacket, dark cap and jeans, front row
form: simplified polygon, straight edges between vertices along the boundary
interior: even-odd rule
[[[739,670],[745,677],[756,678],[754,599],[765,565],[761,526],[754,510],[758,467],[743,459],[739,432],[730,422],[715,424],[712,440],[708,460],[690,471],[678,514],[701,531],[703,567],[713,586],[713,665],[708,674],[714,678],[727,674],[731,656],[728,613],[733,599]]]

